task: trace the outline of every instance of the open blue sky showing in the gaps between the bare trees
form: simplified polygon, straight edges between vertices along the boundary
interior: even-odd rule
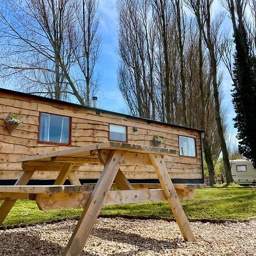
[[[213,6],[213,14],[223,11],[216,1]],[[100,60],[101,67],[101,89],[98,92],[98,107],[108,109],[115,112],[127,111],[127,106],[123,100],[122,94],[118,90],[117,84],[117,67],[118,67],[118,43],[117,43],[117,27],[118,18],[115,8],[115,0],[101,0],[98,6],[101,15],[100,33],[102,34],[102,53]],[[226,16],[223,26],[230,27],[229,17]],[[230,27],[231,28],[231,27]],[[224,65],[223,65],[224,66]],[[232,80],[225,67],[223,76],[223,106],[227,112],[228,130],[235,137],[237,131],[234,129],[233,118],[235,112],[232,104]]]

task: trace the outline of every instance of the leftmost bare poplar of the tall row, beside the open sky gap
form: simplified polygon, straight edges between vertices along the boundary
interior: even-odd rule
[[[122,59],[118,71],[118,84],[132,114],[155,118],[155,33],[151,29],[148,11],[147,0],[118,2],[119,56]]]

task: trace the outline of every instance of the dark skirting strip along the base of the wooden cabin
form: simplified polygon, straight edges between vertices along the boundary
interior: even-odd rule
[[[55,180],[30,180],[28,185],[53,185]],[[159,183],[158,179],[129,179],[130,183]],[[14,185],[16,180],[0,180],[0,185]],[[80,179],[81,184],[97,183],[97,179]],[[174,184],[203,184],[202,179],[172,179]],[[71,185],[66,180],[64,185]]]

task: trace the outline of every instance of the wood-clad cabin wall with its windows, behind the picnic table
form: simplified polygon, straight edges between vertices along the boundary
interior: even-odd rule
[[[11,134],[5,123],[10,113],[18,114],[23,122]],[[25,156],[106,141],[153,146],[154,135],[163,139],[160,147],[177,151],[166,156],[173,183],[204,183],[201,130],[0,89],[0,184],[15,183],[22,171],[18,159]],[[82,182],[96,181],[102,170],[100,164],[75,168]],[[155,183],[158,179],[152,168],[125,166],[122,171],[133,183]],[[51,184],[56,175],[39,168],[32,179],[34,184],[42,180]]]

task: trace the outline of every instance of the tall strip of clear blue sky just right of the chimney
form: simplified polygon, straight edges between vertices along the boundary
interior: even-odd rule
[[[117,84],[118,23],[115,0],[100,1],[98,11],[101,15],[100,33],[102,35],[102,52],[99,63],[101,69],[101,88],[97,95],[98,107],[124,112],[127,107]]]

